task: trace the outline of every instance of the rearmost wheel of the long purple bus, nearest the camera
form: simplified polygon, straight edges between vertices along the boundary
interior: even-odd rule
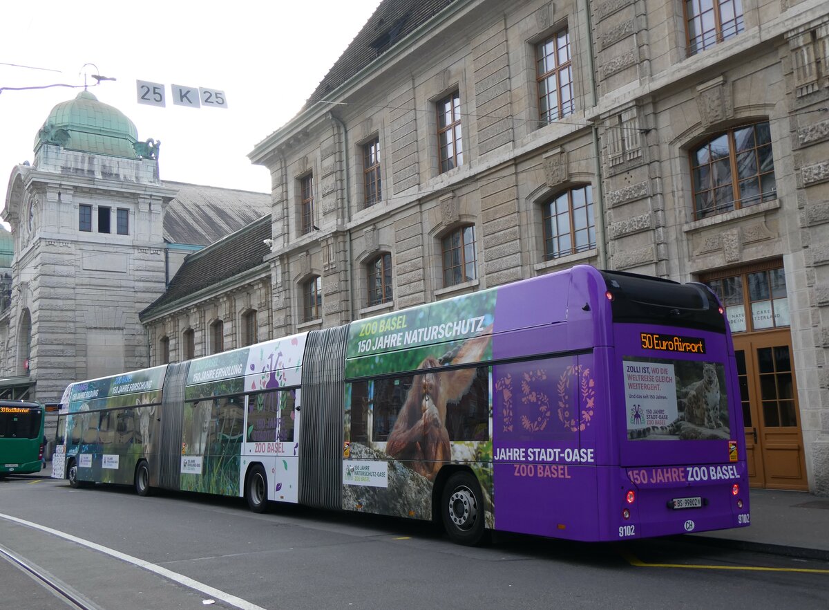
[[[440,514],[449,538],[458,544],[474,546],[483,539],[484,509],[481,486],[469,471],[449,476],[441,494]]]

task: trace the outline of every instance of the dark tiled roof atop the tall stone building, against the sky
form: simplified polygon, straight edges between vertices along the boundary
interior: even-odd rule
[[[444,10],[454,0],[383,0],[371,18],[354,37],[342,56],[317,85],[303,110],[318,100],[325,100],[351,76],[371,64],[397,41]]]

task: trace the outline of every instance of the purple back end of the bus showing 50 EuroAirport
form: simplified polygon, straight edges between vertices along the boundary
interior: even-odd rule
[[[701,284],[602,275],[620,466],[608,537],[749,525],[734,347],[720,304]]]

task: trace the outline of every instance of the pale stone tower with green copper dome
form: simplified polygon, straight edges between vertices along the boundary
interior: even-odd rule
[[[163,215],[175,191],[158,143],[84,90],[37,130],[34,161],[12,169],[2,218],[14,243],[0,311],[2,398],[56,402],[66,385],[138,368],[138,312],[165,289]]]

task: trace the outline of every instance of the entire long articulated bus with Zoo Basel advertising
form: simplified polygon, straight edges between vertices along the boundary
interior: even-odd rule
[[[73,383],[54,476],[435,520],[460,544],[724,529],[749,525],[738,396],[704,285],[576,266]]]

